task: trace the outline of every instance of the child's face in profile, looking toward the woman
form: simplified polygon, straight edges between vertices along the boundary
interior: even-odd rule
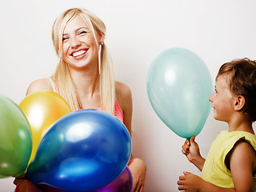
[[[214,108],[214,118],[223,122],[230,122],[234,114],[235,95],[230,91],[229,76],[226,74],[218,76],[215,83],[215,91],[210,95],[209,101]]]

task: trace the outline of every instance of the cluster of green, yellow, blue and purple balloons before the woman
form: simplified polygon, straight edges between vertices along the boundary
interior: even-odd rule
[[[52,91],[16,105],[0,94],[0,178],[25,175],[16,192],[131,191],[126,126],[102,110],[78,110]]]

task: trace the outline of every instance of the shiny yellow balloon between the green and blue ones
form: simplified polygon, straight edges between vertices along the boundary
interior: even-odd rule
[[[19,106],[30,122],[33,143],[30,163],[34,159],[38,145],[49,127],[59,118],[70,113],[71,110],[62,96],[49,90],[27,95]]]

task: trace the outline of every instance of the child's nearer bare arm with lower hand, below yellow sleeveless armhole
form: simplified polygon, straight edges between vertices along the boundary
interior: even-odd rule
[[[192,143],[191,143],[192,144]],[[256,171],[256,153],[248,142],[238,142],[227,156],[227,166],[234,182],[234,188],[222,188],[210,182],[204,181],[197,175],[184,172],[179,177],[178,190],[207,191],[207,192],[252,192],[254,190],[253,174]]]

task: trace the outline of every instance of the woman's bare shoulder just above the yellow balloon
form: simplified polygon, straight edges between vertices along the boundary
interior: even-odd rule
[[[48,78],[41,78],[31,82],[26,91],[26,95],[32,94],[39,90],[53,90],[53,87],[51,86]]]

